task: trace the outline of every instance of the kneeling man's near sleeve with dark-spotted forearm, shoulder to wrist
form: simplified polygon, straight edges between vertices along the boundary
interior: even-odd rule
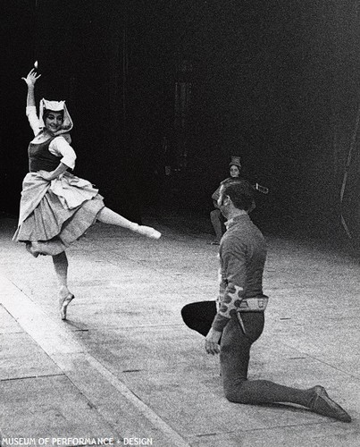
[[[239,240],[225,240],[221,264],[220,307],[213,319],[213,329],[222,332],[231,315],[239,308],[247,283],[246,249]]]

